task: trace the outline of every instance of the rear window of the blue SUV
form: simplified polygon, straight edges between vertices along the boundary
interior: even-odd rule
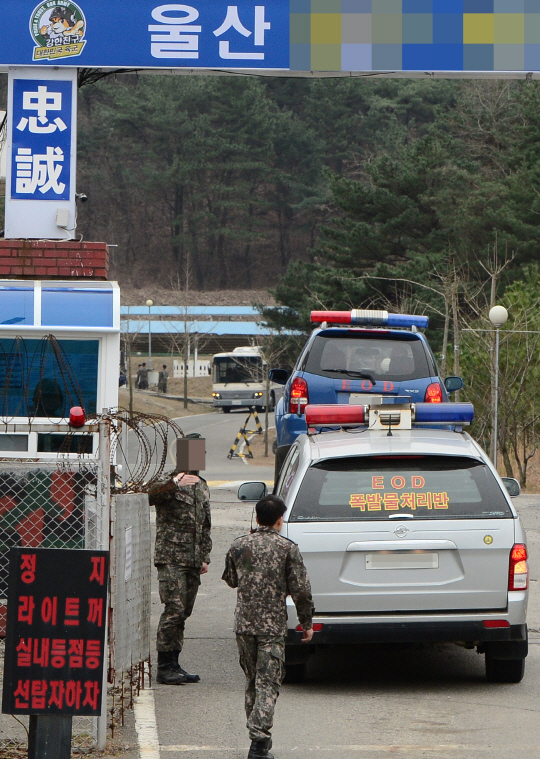
[[[390,334],[376,337],[361,333],[358,337],[318,335],[304,368],[311,374],[337,379],[367,372],[374,382],[387,379],[405,382],[431,376],[422,341],[412,335],[400,340]]]

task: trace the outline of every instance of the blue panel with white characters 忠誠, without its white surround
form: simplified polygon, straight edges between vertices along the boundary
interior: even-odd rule
[[[11,197],[69,200],[73,85],[13,80]]]

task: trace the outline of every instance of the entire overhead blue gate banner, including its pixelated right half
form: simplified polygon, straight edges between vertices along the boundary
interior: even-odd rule
[[[540,0],[0,0],[0,65],[538,71]]]

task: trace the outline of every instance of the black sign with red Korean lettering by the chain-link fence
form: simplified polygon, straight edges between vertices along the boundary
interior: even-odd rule
[[[10,552],[2,711],[101,714],[108,553]]]

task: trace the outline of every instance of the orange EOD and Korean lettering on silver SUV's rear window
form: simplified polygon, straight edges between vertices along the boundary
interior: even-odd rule
[[[352,493],[349,504],[352,509],[360,511],[398,511],[401,509],[447,509],[450,499],[447,492],[435,493],[424,491],[422,493],[411,492],[419,490],[426,485],[426,480],[421,475],[411,475],[410,482],[402,475],[385,477],[374,475],[371,478],[373,490],[385,490],[385,479],[389,480],[392,491],[385,493]],[[410,488],[403,492],[404,488]],[[401,492],[397,492],[401,491]]]

